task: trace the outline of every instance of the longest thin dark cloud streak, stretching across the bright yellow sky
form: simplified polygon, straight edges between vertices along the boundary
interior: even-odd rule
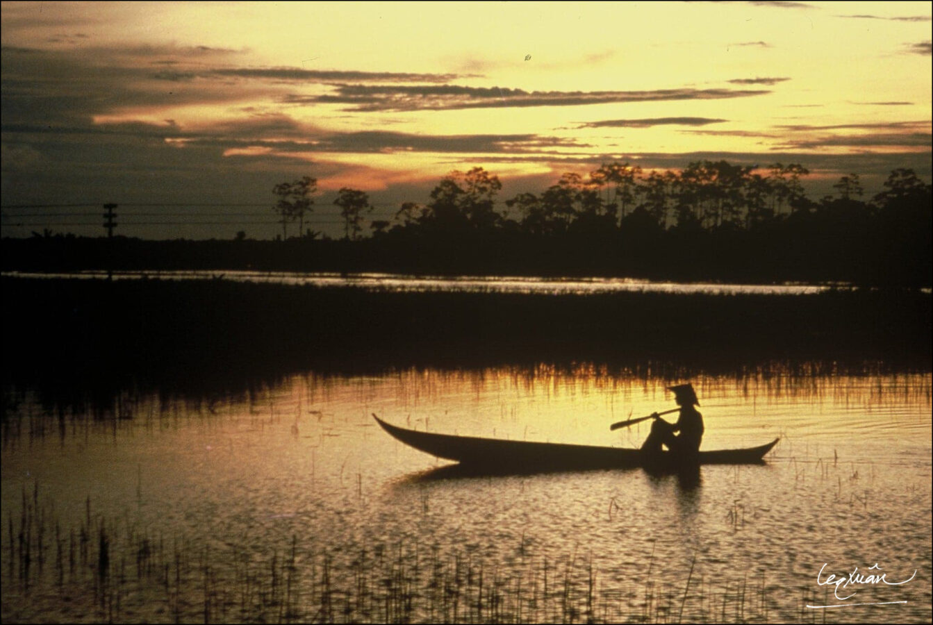
[[[286,104],[349,104],[349,111],[455,110],[465,108],[577,106],[668,100],[718,100],[769,90],[667,89],[651,91],[525,91],[457,85],[334,85],[336,93],[290,95]]]

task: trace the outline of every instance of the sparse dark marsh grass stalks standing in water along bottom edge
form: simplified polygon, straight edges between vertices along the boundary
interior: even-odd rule
[[[556,559],[522,541],[511,565],[469,549],[400,541],[353,551],[291,535],[217,548],[165,534],[85,501],[69,523],[37,484],[7,513],[5,622],[767,622],[764,576],[705,582],[694,557],[682,584],[648,575],[602,581],[597,559]],[[49,604],[49,597],[55,596]],[[33,600],[42,608],[33,608]],[[802,615],[802,613],[801,613]],[[808,618],[812,615],[806,614]]]

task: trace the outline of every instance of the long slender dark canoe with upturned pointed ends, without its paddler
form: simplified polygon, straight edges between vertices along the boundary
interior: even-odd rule
[[[676,468],[683,465],[666,451],[661,457],[646,457],[641,451],[619,447],[431,434],[387,424],[375,414],[372,416],[383,426],[383,430],[406,445],[439,458],[454,460],[461,465],[553,469],[638,466],[654,468],[665,465]],[[764,462],[764,454],[771,451],[778,440],[779,438],[775,438],[767,445],[747,449],[700,451],[699,457],[693,459],[689,465],[759,465]]]

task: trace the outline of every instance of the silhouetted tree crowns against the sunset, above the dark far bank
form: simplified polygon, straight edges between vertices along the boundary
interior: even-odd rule
[[[833,185],[837,195],[814,201],[807,197],[801,179],[808,174],[799,163],[733,165],[726,160],[698,160],[675,171],[650,171],[628,162],[603,164],[586,176],[563,174],[541,193],[520,193],[506,201],[496,196],[502,189],[498,176],[474,167],[453,171],[441,178],[425,203],[401,203],[393,221],[373,220],[373,236],[404,230],[429,230],[434,234],[503,229],[536,236],[561,236],[612,229],[754,230],[795,216],[848,211],[877,215],[885,210],[907,210],[906,204],[929,197],[930,185],[912,170],[897,169],[884,182],[884,191],[870,201],[858,174],[843,175]],[[313,210],[317,181],[305,176],[273,189],[278,201],[273,208],[283,224],[299,222]],[[342,187],[333,202],[341,207],[346,239],[358,239],[364,215],[372,211],[364,191]],[[496,209],[503,205],[504,209]]]

